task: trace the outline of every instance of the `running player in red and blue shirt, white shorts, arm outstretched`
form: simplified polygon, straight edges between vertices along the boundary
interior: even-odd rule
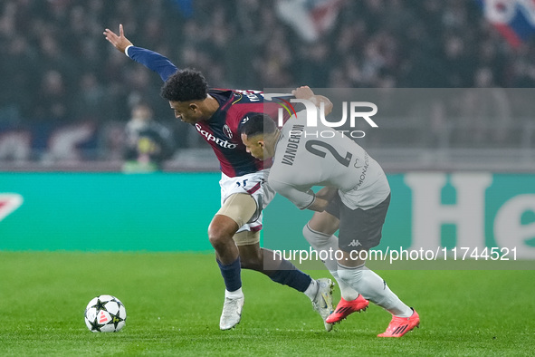
[[[200,72],[180,71],[161,54],[134,46],[125,37],[122,24],[119,35],[109,29],[104,35],[130,59],[158,72],[164,81],[161,96],[169,101],[177,119],[196,127],[221,164],[222,207],[208,227],[208,238],[225,281],[219,327],[228,330],[240,322],[244,305],[241,269],[246,268],[309,296],[325,329],[330,331],[332,324],[325,323],[325,319],[333,310],[331,280],[312,279],[272,250],[260,247],[262,210],[274,191],[264,180],[269,169],[245,150],[239,126],[255,113],[275,116],[278,105],[264,101],[262,92],[208,89]]]

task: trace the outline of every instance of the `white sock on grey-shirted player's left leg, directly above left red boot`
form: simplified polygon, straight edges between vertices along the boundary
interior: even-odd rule
[[[329,236],[323,233],[317,232],[309,227],[307,224],[303,227],[302,234],[305,239],[309,242],[318,254],[320,251],[326,250],[329,252],[332,249],[332,252],[336,252],[338,247],[338,238],[336,236]],[[330,274],[334,277],[340,288],[340,294],[346,301],[355,300],[358,298],[358,292],[356,292],[351,286],[347,285],[338,275],[338,265],[334,256],[326,255],[332,257],[333,259],[323,261],[323,264],[329,269]]]

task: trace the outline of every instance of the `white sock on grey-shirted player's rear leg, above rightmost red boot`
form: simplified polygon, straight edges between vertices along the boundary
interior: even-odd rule
[[[403,304],[396,294],[392,293],[387,283],[366,266],[348,267],[338,265],[338,274],[364,298],[387,310],[388,313],[399,317],[410,317],[413,311]]]

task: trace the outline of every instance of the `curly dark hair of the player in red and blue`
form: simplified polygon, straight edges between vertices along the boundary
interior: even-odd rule
[[[186,69],[167,78],[160,95],[167,101],[202,101],[208,95],[208,83],[201,72]]]

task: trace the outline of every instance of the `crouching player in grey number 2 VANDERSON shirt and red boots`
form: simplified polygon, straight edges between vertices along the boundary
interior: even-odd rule
[[[332,110],[330,100],[315,95],[309,87],[292,94],[314,103],[314,115],[319,115],[320,109],[325,116]],[[273,159],[268,178],[271,188],[295,206],[316,211],[303,228],[310,246],[319,252],[341,251],[338,261],[324,262],[342,295],[326,323],[338,323],[365,310],[369,300],[392,314],[387,330],[378,337],[401,337],[419,326],[418,314],[365,266],[361,257],[366,255],[355,254],[380,242],[390,202],[387,177],[377,161],[343,133],[321,123],[307,127],[307,115],[310,113],[299,111],[282,130],[269,115],[254,115],[240,129],[242,140],[253,157]],[[310,189],[313,186],[324,188],[315,194]],[[337,230],[338,238],[334,236]]]

